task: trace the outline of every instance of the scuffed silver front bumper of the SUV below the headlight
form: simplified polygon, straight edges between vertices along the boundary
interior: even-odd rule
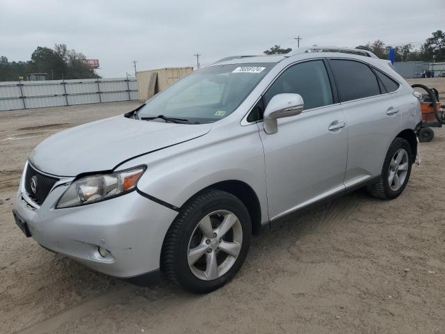
[[[81,207],[55,209],[68,185],[56,186],[40,207],[23,189],[14,209],[41,246],[118,278],[158,271],[165,234],[177,212],[136,191]],[[98,247],[109,251],[102,257]]]

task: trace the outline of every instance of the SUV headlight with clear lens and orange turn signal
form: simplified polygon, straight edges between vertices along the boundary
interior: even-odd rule
[[[56,208],[77,207],[128,193],[136,188],[145,168],[139,166],[113,174],[81,177],[63,193]]]

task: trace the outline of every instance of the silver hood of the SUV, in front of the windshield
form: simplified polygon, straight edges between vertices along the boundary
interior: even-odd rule
[[[211,124],[148,122],[115,116],[72,127],[45,139],[29,159],[39,170],[76,176],[112,170],[122,161],[207,134]]]

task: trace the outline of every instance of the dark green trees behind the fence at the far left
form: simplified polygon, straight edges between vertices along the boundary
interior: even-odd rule
[[[18,81],[29,73],[47,73],[47,79],[93,79],[99,78],[86,64],[86,56],[65,44],[56,44],[54,49],[37,47],[30,61],[8,61],[0,56],[0,81]]]

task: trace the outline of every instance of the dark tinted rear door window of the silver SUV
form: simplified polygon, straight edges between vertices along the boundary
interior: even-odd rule
[[[330,65],[340,102],[380,95],[377,78],[368,65],[343,59],[332,59]]]

